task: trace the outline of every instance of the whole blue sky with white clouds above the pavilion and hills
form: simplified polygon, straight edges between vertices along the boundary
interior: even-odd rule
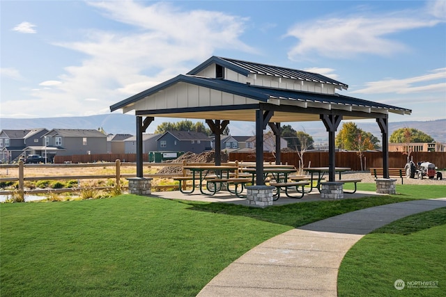
[[[446,118],[446,1],[0,1],[1,118],[109,106],[224,56]]]

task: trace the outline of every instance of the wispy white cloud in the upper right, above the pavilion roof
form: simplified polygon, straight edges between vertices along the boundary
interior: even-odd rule
[[[351,58],[357,54],[390,56],[408,50],[403,43],[392,40],[390,34],[442,22],[431,16],[427,12],[405,11],[388,15],[323,18],[296,24],[286,36],[297,38],[299,42],[288,55],[291,60],[309,53],[330,58]]]

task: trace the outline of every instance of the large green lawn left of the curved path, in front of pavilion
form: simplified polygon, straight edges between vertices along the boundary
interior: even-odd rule
[[[276,234],[445,190],[403,186],[400,195],[265,209],[137,195],[0,204],[0,296],[195,296]]]

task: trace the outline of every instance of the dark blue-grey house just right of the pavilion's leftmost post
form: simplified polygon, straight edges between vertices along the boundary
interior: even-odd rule
[[[157,140],[160,152],[194,152],[199,154],[211,150],[211,138],[204,133],[194,131],[167,131]]]

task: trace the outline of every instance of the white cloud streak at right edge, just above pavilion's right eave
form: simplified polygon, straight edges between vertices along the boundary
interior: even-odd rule
[[[406,79],[383,79],[366,83],[366,88],[354,90],[357,94],[443,92],[446,94],[446,68],[432,70],[428,74]],[[444,99],[444,98],[443,98]]]

